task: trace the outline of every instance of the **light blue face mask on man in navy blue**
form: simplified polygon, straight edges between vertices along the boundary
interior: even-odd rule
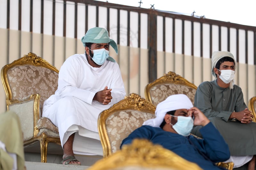
[[[186,116],[174,116],[173,117],[178,117],[178,121],[172,125],[172,128],[180,135],[186,137],[190,134],[191,130],[193,129],[194,126],[194,120],[192,117],[186,117]]]

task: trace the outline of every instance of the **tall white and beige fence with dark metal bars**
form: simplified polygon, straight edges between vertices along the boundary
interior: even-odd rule
[[[118,44],[118,55],[111,54],[127,94],[144,96],[145,85],[168,71],[196,85],[212,80],[211,54],[221,50],[236,56],[245,101],[256,95],[256,27],[93,0],[0,3],[1,66],[34,52],[59,69],[68,56],[84,53],[81,37],[99,26]]]

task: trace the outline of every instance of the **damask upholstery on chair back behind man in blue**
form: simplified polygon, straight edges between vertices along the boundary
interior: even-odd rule
[[[107,134],[109,137],[111,152],[120,150],[120,145],[124,139],[139,128],[144,121],[155,118],[154,114],[140,112],[138,110],[126,110],[116,112],[106,119]],[[125,132],[125,133],[124,133]]]

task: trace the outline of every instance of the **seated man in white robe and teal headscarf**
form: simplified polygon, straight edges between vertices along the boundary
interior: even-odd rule
[[[72,55],[63,63],[58,89],[43,106],[42,116],[59,128],[64,152],[62,164],[81,165],[73,152],[75,132],[79,132],[79,136],[84,136],[86,130],[98,132],[99,114],[125,96],[119,65],[108,55],[109,45],[118,52],[108,31],[91,28],[82,42],[85,54]]]

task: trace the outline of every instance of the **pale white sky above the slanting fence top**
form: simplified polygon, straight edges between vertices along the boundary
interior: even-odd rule
[[[98,0],[106,2],[106,0]],[[109,3],[139,7],[140,0],[108,0]],[[141,8],[154,5],[157,10],[205,16],[225,22],[256,26],[255,0],[141,0]]]

